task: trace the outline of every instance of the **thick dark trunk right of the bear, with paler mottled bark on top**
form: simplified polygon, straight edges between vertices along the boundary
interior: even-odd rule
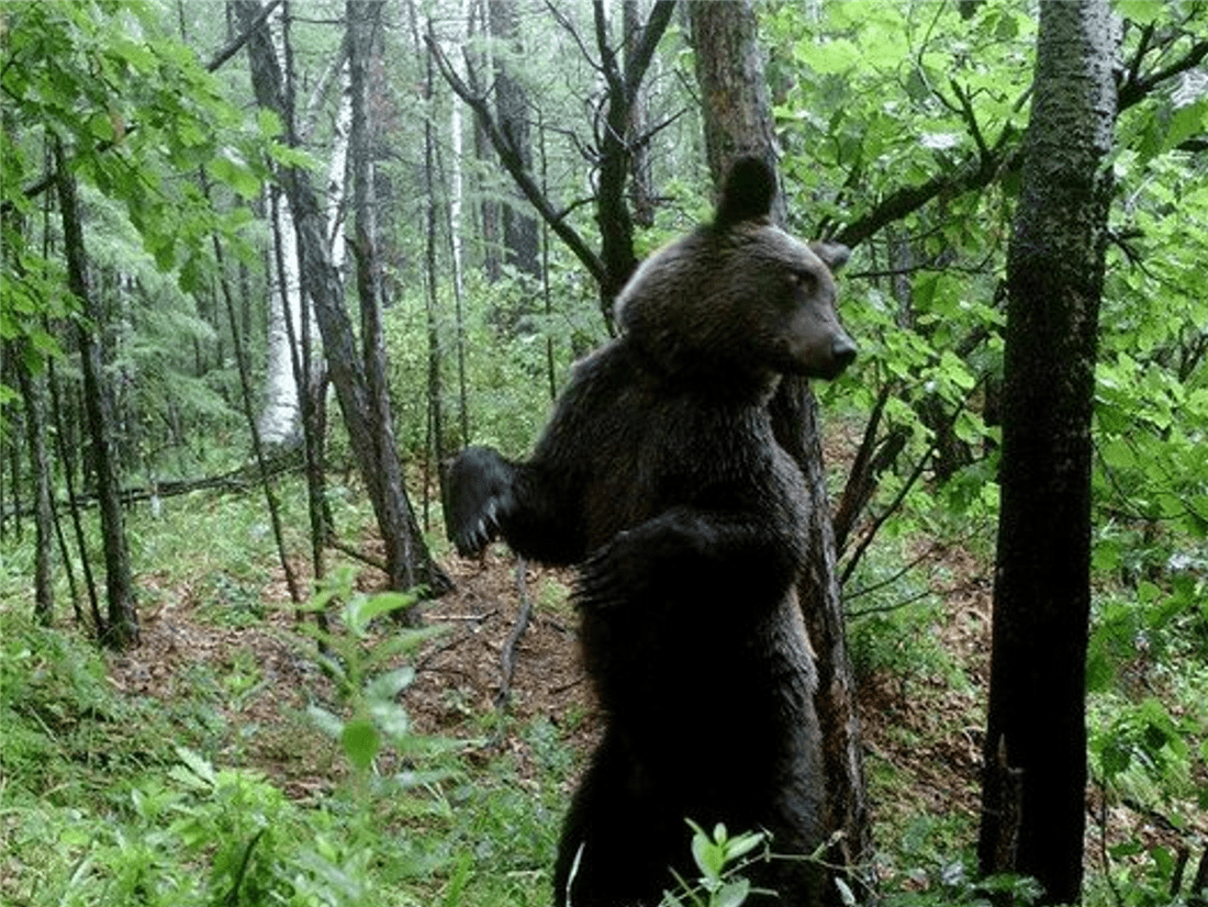
[[[1007,254],[983,873],[1078,901],[1086,792],[1091,413],[1116,115],[1108,0],[1043,0]]]

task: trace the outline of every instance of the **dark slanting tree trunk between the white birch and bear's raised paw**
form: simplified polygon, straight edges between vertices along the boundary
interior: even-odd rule
[[[251,27],[260,12],[257,0],[233,2],[244,27]],[[281,91],[281,72],[266,25],[256,28],[248,40],[248,56],[256,100],[274,110],[283,122],[290,122]],[[383,364],[376,359],[366,364],[358,349],[353,325],[344,309],[339,274],[331,262],[331,250],[325,236],[326,222],[319,199],[303,169],[284,168],[280,178],[297,229],[302,283],[315,307],[331,382],[336,388],[344,426],[387,547],[391,587],[410,589],[423,586],[430,595],[443,594],[452,583],[431,559],[424,543],[402,487],[402,469],[393,443],[393,429],[382,420],[381,401],[384,391],[381,388],[384,382],[378,382],[384,371],[378,371],[373,377],[368,373],[383,370]],[[372,280],[370,286],[372,287]],[[377,390],[371,389],[371,380]],[[377,407],[374,399],[378,400]]]

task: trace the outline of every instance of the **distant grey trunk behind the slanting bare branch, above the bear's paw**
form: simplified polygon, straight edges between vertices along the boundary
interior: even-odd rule
[[[516,53],[523,53],[519,41],[519,28],[516,12],[516,0],[490,0],[487,4],[490,35],[499,46],[506,46]],[[495,66],[495,116],[504,140],[519,158],[523,168],[533,169],[533,143],[529,138],[528,97],[524,87],[516,81],[511,68],[503,54],[496,54]],[[505,204],[504,250],[507,263],[522,274],[538,277],[539,244],[536,219],[525,210],[521,199]]]

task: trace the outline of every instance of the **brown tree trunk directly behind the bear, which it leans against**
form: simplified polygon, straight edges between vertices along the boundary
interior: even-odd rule
[[[742,155],[757,155],[776,164],[771,105],[763,63],[756,42],[755,13],[742,2],[691,4],[692,42],[697,79],[704,99],[705,147],[715,185],[730,163]],[[783,196],[773,216],[784,223]],[[827,832],[841,832],[829,861],[841,867],[846,883],[871,884],[869,808],[855,709],[855,681],[847,655],[842,603],[835,571],[835,533],[823,471],[817,405],[808,382],[785,378],[772,400],[777,440],[797,461],[809,496],[809,557],[797,587],[809,638],[818,656],[814,705],[823,732],[826,773]],[[863,888],[860,889],[863,891]],[[826,899],[840,903],[838,889],[827,885]]]

